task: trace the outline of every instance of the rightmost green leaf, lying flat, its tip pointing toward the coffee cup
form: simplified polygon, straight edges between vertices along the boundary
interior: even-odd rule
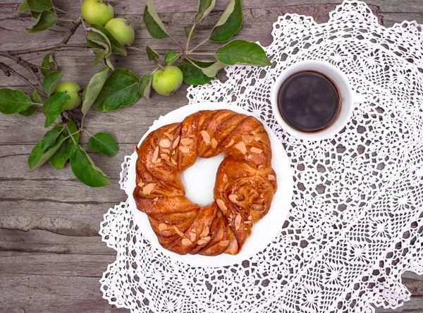
[[[214,54],[218,61],[226,65],[251,64],[257,66],[271,66],[266,52],[255,42],[233,40],[217,49]]]

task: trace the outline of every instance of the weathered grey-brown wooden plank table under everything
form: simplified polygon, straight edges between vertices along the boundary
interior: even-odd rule
[[[145,0],[110,1],[118,16],[127,16],[137,25],[135,46],[146,44],[161,52],[168,49],[168,40],[151,39],[141,25]],[[227,0],[217,1],[222,11]],[[251,41],[271,42],[271,25],[285,13],[313,16],[318,23],[328,19],[340,0],[244,0],[244,25],[237,37]],[[54,0],[63,10],[79,14],[79,1]],[[190,25],[197,1],[157,0],[157,11],[168,30],[181,42],[180,30]],[[28,16],[18,16],[16,0],[0,1],[0,50],[39,47],[61,41],[68,32],[68,23],[56,25],[47,32],[27,34],[32,23]],[[369,6],[386,26],[402,20],[423,23],[423,0],[369,0]],[[212,13],[198,27],[205,35],[216,22]],[[71,42],[84,42],[84,32],[75,32]],[[201,37],[201,36],[197,36]],[[202,49],[212,49],[204,44]],[[45,53],[27,54],[28,61],[39,62]],[[63,79],[75,80],[85,86],[96,68],[89,51],[55,51],[55,59],[64,70]],[[20,70],[15,63],[1,59]],[[113,58],[116,67],[127,67],[137,75],[152,66],[145,54],[129,51],[126,58]],[[87,66],[88,65],[88,66]],[[98,68],[97,68],[98,69]],[[0,75],[1,87],[27,90],[20,80]],[[56,171],[44,165],[37,171],[27,168],[27,156],[35,142],[44,135],[43,116],[30,118],[18,114],[0,115],[0,312],[128,312],[110,306],[102,299],[99,278],[107,264],[115,259],[114,250],[102,243],[98,231],[103,214],[114,204],[125,200],[118,186],[123,156],[133,152],[133,145],[158,116],[187,103],[186,85],[173,97],[154,96],[141,99],[130,107],[111,113],[90,111],[86,127],[92,133],[108,131],[118,140],[120,152],[114,158],[92,155],[111,178],[111,185],[92,189],[74,178],[66,166]],[[87,138],[82,137],[86,145]],[[410,302],[395,312],[423,312],[423,278],[406,273],[403,283],[412,292]],[[393,312],[376,309],[376,312]]]

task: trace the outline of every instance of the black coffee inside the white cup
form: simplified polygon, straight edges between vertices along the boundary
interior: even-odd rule
[[[336,120],[341,97],[325,75],[304,70],[283,82],[278,93],[278,107],[288,125],[313,133],[324,130]]]

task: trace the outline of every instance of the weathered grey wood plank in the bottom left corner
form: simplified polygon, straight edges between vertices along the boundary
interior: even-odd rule
[[[102,298],[98,277],[0,274],[1,313],[128,313]]]

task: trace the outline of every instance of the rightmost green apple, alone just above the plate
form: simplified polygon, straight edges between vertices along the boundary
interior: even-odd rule
[[[152,86],[159,94],[168,96],[176,92],[182,84],[183,73],[176,66],[166,66],[164,70],[156,70],[153,74]]]

